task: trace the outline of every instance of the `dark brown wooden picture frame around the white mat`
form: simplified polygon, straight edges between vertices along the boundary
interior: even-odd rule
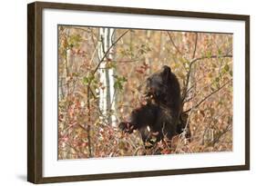
[[[42,11],[45,8],[59,10],[96,11],[139,15],[167,15],[197,17],[245,22],[245,164],[162,171],[133,171],[92,175],[68,175],[43,177],[43,73],[42,73]],[[61,181],[91,181],[104,179],[163,176],[215,171],[250,170],[250,16],[200,12],[170,11],[129,7],[75,5],[35,2],[27,5],[27,181],[48,183]]]

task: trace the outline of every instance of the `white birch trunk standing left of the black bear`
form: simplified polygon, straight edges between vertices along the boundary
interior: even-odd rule
[[[100,28],[99,29],[99,47],[98,56],[101,60],[108,48],[112,45],[112,35],[113,28]],[[105,60],[99,66],[100,83],[105,87],[104,89],[99,89],[99,108],[103,114],[105,122],[110,122],[112,126],[117,126],[117,117],[114,114],[116,111],[115,102],[115,89],[114,89],[114,69],[107,68],[108,60],[113,59],[113,49],[110,49]],[[113,112],[111,112],[113,111]]]

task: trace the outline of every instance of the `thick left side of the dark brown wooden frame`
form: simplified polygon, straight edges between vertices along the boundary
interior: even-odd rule
[[[42,181],[42,8],[27,5],[27,181]]]

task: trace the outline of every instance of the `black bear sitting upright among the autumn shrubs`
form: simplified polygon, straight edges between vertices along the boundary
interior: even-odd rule
[[[148,77],[145,85],[146,102],[132,111],[128,122],[120,122],[119,128],[125,132],[138,130],[143,142],[150,142],[152,137],[159,142],[164,136],[171,140],[182,128],[179,81],[169,66],[164,65]]]

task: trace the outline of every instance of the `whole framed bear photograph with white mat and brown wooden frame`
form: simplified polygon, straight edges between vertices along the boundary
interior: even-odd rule
[[[27,180],[250,169],[250,16],[36,2]]]

